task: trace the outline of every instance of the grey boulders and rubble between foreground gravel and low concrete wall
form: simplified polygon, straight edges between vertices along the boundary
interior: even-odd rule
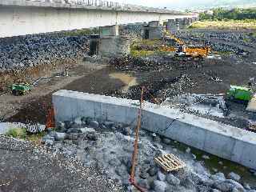
[[[58,122],[57,130],[48,130],[43,138],[50,149],[62,151],[85,166],[93,166],[109,178],[121,183],[126,191],[136,191],[128,182],[131,155],[134,150],[134,127],[116,122],[95,121],[92,118],[75,118],[73,122]],[[242,181],[240,175],[223,174],[215,170],[210,174],[202,161],[198,161],[189,147],[179,150],[176,141],[160,138],[146,130],[140,131],[136,180],[148,191],[248,191],[256,186]],[[175,154],[186,167],[166,173],[154,163],[154,157]],[[203,159],[209,159],[203,155]],[[252,176],[253,177],[253,176]]]

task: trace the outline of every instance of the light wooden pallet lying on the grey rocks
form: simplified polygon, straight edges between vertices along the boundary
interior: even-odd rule
[[[167,172],[179,170],[186,166],[185,162],[182,162],[182,160],[178,159],[174,154],[164,154],[160,157],[154,158],[154,162]]]

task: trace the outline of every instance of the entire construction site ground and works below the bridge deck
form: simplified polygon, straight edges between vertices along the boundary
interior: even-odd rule
[[[255,31],[190,22],[0,38],[0,192],[256,191]]]

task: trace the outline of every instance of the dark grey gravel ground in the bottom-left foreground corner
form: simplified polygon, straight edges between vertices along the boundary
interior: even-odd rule
[[[74,159],[0,135],[0,191],[114,192],[122,188]]]

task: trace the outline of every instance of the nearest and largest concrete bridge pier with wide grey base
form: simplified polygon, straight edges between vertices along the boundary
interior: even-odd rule
[[[99,30],[98,54],[102,57],[122,57],[130,54],[130,39],[119,36],[119,27],[102,26]]]

